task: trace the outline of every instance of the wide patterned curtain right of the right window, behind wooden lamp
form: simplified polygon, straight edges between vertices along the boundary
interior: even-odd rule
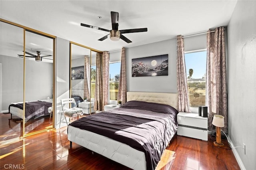
[[[227,113],[227,75],[224,27],[208,31],[207,34],[207,63],[206,63],[206,103],[209,109],[208,129],[212,131],[213,115],[224,116],[224,132],[228,132]]]

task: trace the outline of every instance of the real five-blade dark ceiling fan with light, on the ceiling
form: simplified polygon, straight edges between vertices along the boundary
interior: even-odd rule
[[[122,40],[124,40],[127,43],[131,43],[132,41],[129,40],[128,38],[126,38],[125,36],[123,36],[122,34],[133,33],[133,32],[147,32],[148,31],[148,28],[118,30],[118,16],[119,16],[118,12],[111,11],[112,30],[106,30],[104,28],[100,28],[100,27],[96,27],[96,26],[90,26],[90,25],[82,24],[82,23],[81,23],[81,26],[109,32],[108,35],[110,35],[110,40],[118,41],[121,38]],[[103,40],[107,39],[108,35],[100,38],[99,41],[103,41]]]

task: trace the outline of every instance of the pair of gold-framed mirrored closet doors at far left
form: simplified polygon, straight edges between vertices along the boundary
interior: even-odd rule
[[[1,141],[8,141],[54,127],[55,36],[0,25]]]

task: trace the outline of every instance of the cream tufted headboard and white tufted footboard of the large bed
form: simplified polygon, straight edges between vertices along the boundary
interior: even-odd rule
[[[127,101],[146,101],[178,108],[177,93],[127,92]],[[144,152],[127,144],[80,128],[68,127],[68,140],[134,170],[146,170]]]

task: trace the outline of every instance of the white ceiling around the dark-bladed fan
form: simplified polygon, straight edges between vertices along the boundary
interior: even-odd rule
[[[226,26],[235,5],[236,0],[1,0],[0,17],[100,51],[112,51]],[[119,12],[119,30],[148,28],[148,32],[125,34],[132,43],[109,38],[101,42],[98,39],[108,32],[80,26],[84,23],[111,30],[110,11]]]

